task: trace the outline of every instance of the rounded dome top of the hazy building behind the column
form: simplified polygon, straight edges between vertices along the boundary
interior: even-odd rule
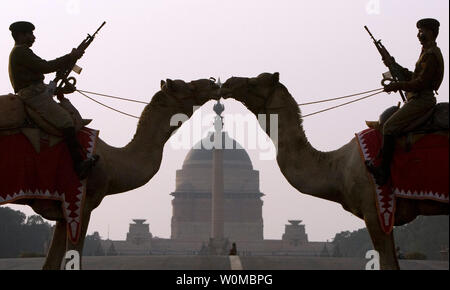
[[[214,146],[214,133],[210,132],[186,155],[183,162],[183,169],[202,167],[211,168],[212,152]],[[227,132],[222,132],[223,166],[224,168],[253,169],[252,162],[247,152],[234,139],[228,136]]]

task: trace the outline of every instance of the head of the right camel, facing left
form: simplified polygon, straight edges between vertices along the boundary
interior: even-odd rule
[[[221,87],[219,95],[234,98],[243,103],[254,114],[267,113],[267,109],[278,102],[273,98],[280,87],[279,73],[262,73],[254,78],[231,77]]]

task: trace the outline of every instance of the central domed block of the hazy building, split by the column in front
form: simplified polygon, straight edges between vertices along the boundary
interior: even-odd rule
[[[176,189],[171,193],[174,240],[203,242],[211,236],[213,150],[208,148],[213,142],[211,132],[189,151],[176,172]],[[224,236],[233,241],[261,241],[263,194],[259,190],[259,171],[253,169],[247,152],[226,132],[222,132],[222,149]]]

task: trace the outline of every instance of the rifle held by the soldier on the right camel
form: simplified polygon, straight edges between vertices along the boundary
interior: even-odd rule
[[[386,82],[398,82],[398,81],[406,81],[408,80],[407,77],[405,76],[405,73],[403,72],[403,68],[397,64],[394,60],[394,58],[389,54],[389,52],[387,51],[386,47],[384,47],[384,45],[381,43],[381,39],[380,40],[376,40],[375,37],[373,37],[372,33],[370,33],[369,28],[367,28],[367,26],[364,25],[364,28],[367,30],[367,32],[369,33],[370,37],[373,40],[373,43],[375,44],[375,47],[377,48],[378,52],[381,55],[381,58],[383,60],[383,62],[385,63],[390,63],[389,65],[386,65],[389,69],[388,72],[385,72],[382,74],[383,79],[381,80],[381,84],[384,86],[387,85]],[[400,96],[402,97],[403,102],[406,102],[406,98],[405,95],[403,94],[403,91],[399,90]]]

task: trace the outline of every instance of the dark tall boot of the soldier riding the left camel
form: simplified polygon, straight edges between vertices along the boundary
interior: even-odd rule
[[[74,127],[65,128],[63,129],[63,134],[67,147],[69,148],[70,156],[72,157],[73,169],[75,170],[75,173],[77,174],[78,178],[80,180],[83,180],[89,175],[92,168],[97,163],[99,156],[92,155],[92,157],[83,160],[83,157],[81,155],[82,148],[80,143],[78,143],[75,128]]]

